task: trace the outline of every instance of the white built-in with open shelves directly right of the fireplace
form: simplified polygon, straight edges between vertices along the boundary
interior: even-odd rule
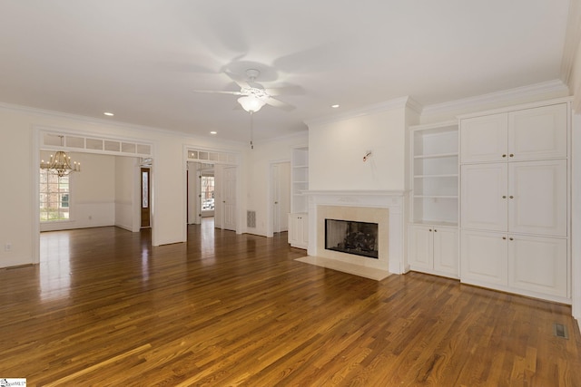
[[[458,278],[458,122],[410,128],[409,268]]]

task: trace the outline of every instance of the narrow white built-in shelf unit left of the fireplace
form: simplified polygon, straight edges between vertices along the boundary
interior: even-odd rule
[[[289,214],[289,243],[292,247],[307,248],[309,242],[308,197],[309,148],[291,150],[291,213]]]

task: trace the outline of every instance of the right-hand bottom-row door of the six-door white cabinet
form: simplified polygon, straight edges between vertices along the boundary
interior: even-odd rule
[[[566,239],[509,235],[508,256],[508,285],[567,296]]]

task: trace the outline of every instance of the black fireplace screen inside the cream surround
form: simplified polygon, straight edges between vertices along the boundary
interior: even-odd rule
[[[378,259],[378,224],[325,219],[325,249]]]

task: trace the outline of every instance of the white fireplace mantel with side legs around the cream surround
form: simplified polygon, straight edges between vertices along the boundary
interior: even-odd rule
[[[308,190],[309,197],[309,256],[317,256],[319,206],[342,206],[389,209],[389,258],[383,263],[384,270],[392,274],[403,273],[404,255],[404,190]]]

